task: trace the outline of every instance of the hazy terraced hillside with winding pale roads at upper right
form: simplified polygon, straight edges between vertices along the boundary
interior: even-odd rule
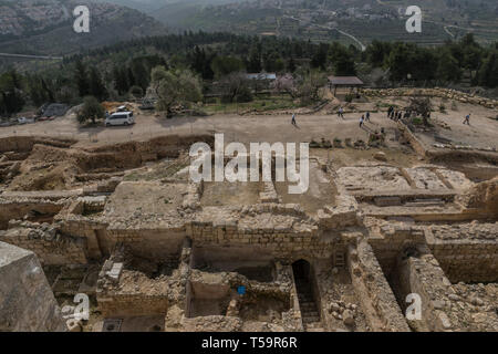
[[[405,9],[414,4],[423,11],[422,33],[405,29]],[[430,45],[468,32],[481,43],[498,39],[498,6],[492,0],[256,0],[190,9],[186,6],[177,4],[177,10],[183,9],[181,17],[157,11],[157,18],[178,29],[292,35],[313,41],[339,39],[345,43],[377,39]]]

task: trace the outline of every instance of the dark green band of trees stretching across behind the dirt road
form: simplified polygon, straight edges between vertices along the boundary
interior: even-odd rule
[[[251,98],[237,80],[240,73],[259,72],[294,74],[297,82],[304,85],[321,83],[326,74],[363,75],[381,67],[391,84],[411,81],[444,85],[466,76],[473,85],[496,87],[497,54],[498,43],[483,46],[471,34],[436,48],[373,41],[362,52],[336,42],[185,32],[91,50],[64,58],[60,65],[38,73],[8,70],[0,74],[0,114],[9,116],[25,105],[48,102],[77,104],[89,95],[101,102],[139,98],[152,87],[157,66],[178,77],[197,77],[201,92],[214,82],[231,82],[231,91],[226,93],[227,97],[234,96],[231,101]],[[298,88],[287,92],[295,93]],[[298,91],[305,91],[301,88]],[[234,95],[235,90],[238,93]]]

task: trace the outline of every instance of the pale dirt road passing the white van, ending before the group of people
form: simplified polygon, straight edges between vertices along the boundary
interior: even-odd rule
[[[206,134],[224,133],[226,142],[310,142],[322,137],[332,140],[334,137],[364,139],[367,129],[380,131],[381,127],[394,128],[394,123],[385,114],[373,114],[372,123],[365,128],[359,127],[361,114],[346,114],[344,119],[336,115],[297,116],[298,125],[291,125],[291,117],[283,115],[216,115],[209,117],[164,117],[137,115],[136,124],[129,127],[93,127],[81,128],[74,118],[56,118],[52,122],[39,122],[21,126],[0,128],[0,137],[4,136],[52,136],[80,140],[79,145],[105,145],[126,140],[146,140],[155,136],[168,134]]]

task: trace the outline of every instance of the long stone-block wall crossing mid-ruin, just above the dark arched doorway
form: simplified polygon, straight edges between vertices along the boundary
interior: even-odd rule
[[[134,253],[147,258],[164,259],[178,254],[183,240],[193,239],[197,246],[259,246],[273,257],[298,256],[328,258],[335,246],[342,244],[341,232],[357,225],[354,198],[323,212],[315,220],[298,205],[261,204],[245,207],[241,217],[227,221],[185,220],[183,226],[148,229],[145,226],[122,228],[111,223],[105,235],[112,244],[126,243]],[[336,233],[333,239],[322,238],[326,232]],[[338,231],[341,230],[341,231]]]

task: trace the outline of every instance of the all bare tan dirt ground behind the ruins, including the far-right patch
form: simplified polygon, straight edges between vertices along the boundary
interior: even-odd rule
[[[406,97],[387,97],[383,98],[382,103],[384,105],[395,103],[404,107],[408,101]],[[437,111],[433,113],[433,121],[436,123],[438,135],[449,138],[456,144],[498,148],[498,139],[496,138],[498,112],[496,110],[440,98],[433,98],[432,103]],[[445,113],[438,112],[442,104],[446,108]],[[364,108],[366,110],[366,106]],[[470,126],[463,124],[467,114],[471,114]],[[369,132],[380,131],[383,127],[390,135],[390,132],[393,132],[396,126],[394,122],[386,118],[386,113],[380,112],[373,113],[372,122],[366,123],[364,128],[360,128],[361,116],[362,113],[346,113],[345,118],[342,119],[335,114],[320,112],[314,115],[298,115],[298,125],[293,126],[290,116],[280,114],[245,116],[232,114],[166,119],[163,116],[146,115],[138,112],[136,113],[136,124],[129,127],[98,126],[84,128],[79,125],[74,117],[60,117],[52,122],[1,127],[0,137],[12,135],[58,136],[77,139],[80,140],[79,146],[98,146],[132,139],[145,140],[167,134],[216,132],[225,134],[225,143],[298,143],[311,142],[312,139],[320,140],[321,138],[333,140],[335,137],[343,140],[345,138],[367,140]],[[449,126],[449,129],[442,127],[438,123]],[[426,144],[436,143],[433,133],[421,134],[419,136]]]

